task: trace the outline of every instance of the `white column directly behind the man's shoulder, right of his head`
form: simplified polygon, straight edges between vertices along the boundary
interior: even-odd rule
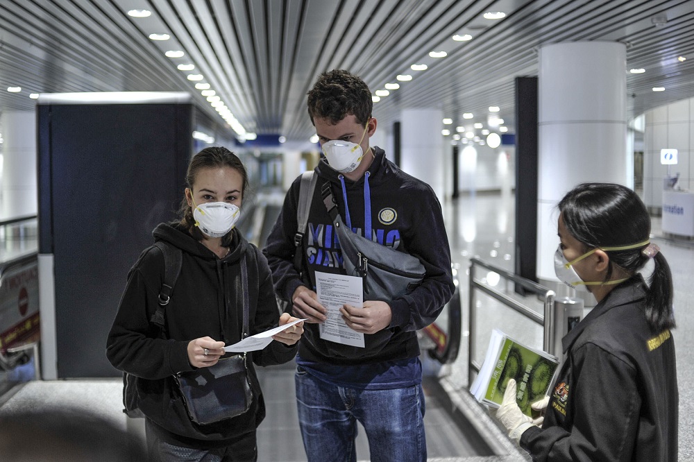
[[[438,109],[406,109],[400,113],[400,168],[428,183],[443,203],[446,160],[441,114]]]

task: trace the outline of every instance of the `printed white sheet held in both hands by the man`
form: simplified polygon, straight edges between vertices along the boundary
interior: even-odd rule
[[[316,271],[318,301],[328,309],[328,319],[319,327],[321,339],[364,348],[364,334],[347,327],[340,314],[342,305],[362,307],[363,284],[361,277]]]

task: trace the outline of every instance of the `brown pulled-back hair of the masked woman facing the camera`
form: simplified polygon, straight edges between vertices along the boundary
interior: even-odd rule
[[[229,151],[227,148],[222,148],[220,146],[214,146],[210,148],[205,148],[196,155],[192,157],[190,163],[188,164],[188,171],[185,175],[186,186],[190,188],[191,194],[193,192],[193,185],[195,184],[195,178],[199,171],[203,169],[219,169],[222,167],[229,167],[230,169],[235,169],[241,175],[243,179],[243,185],[241,188],[242,198],[246,196],[246,189],[248,189],[248,173],[246,172],[246,167],[244,166],[241,159],[237,157],[234,153]],[[203,232],[198,229],[195,225],[195,219],[193,218],[193,207],[188,205],[188,200],[184,197],[180,203],[180,209],[178,210],[180,216],[180,223],[187,228],[191,236],[201,241],[203,239]],[[224,237],[222,237],[222,245],[228,246],[232,239],[232,231],[228,232]]]

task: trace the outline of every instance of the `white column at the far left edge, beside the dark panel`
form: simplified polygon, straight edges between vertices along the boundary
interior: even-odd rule
[[[38,209],[35,112],[3,111],[0,133],[4,139],[0,218],[35,215]]]

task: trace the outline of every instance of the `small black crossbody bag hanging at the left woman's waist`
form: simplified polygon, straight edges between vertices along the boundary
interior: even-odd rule
[[[248,336],[248,270],[241,260],[241,290],[244,294],[244,330]],[[251,388],[246,353],[221,357],[214,366],[174,375],[190,420],[209,425],[241,415],[251,408]]]

